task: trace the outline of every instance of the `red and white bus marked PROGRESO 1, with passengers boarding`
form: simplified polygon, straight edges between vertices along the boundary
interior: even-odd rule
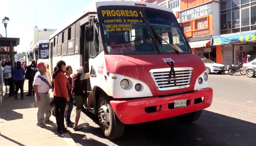
[[[108,139],[121,137],[125,124],[193,122],[211,105],[206,67],[169,8],[93,1],[49,40],[51,70],[64,60],[89,72],[95,115]]]

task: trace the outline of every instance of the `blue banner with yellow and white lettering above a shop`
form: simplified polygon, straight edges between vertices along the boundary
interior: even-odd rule
[[[211,46],[237,42],[256,42],[256,31],[222,34],[211,37]]]

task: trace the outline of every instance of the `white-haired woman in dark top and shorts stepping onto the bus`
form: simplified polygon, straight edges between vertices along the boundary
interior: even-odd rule
[[[73,130],[78,131],[82,130],[82,127],[78,127],[78,121],[80,119],[80,113],[87,98],[87,108],[86,110],[94,110],[90,108],[90,104],[92,101],[92,92],[87,91],[87,81],[89,78],[89,74],[84,74],[84,68],[78,67],[75,71],[75,74],[72,77],[72,90],[71,94],[76,103],[76,117],[75,117],[75,125]]]

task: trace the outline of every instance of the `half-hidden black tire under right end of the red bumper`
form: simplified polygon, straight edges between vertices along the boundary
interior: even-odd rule
[[[191,123],[191,122],[196,121],[200,117],[201,113],[202,113],[202,110],[192,112],[192,113],[183,114],[183,115],[179,115],[179,116],[176,116],[175,118],[179,122],[182,122],[182,123]]]

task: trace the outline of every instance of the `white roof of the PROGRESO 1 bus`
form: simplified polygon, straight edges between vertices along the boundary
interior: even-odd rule
[[[60,29],[56,30],[53,34],[51,34],[50,37],[49,37],[49,40],[51,40],[51,38],[55,37],[57,34],[62,32],[63,30],[65,30],[68,26],[70,26],[71,24],[73,24],[74,22],[79,20],[82,16],[84,16],[88,12],[96,13],[97,12],[97,8],[100,7],[100,6],[108,6],[108,5],[111,5],[111,6],[113,6],[113,5],[135,6],[135,3],[136,4],[144,4],[144,5],[146,5],[146,6],[136,5],[136,7],[154,8],[154,9],[164,10],[164,11],[168,11],[168,12],[173,13],[170,8],[166,8],[166,7],[163,7],[161,5],[152,4],[152,3],[146,3],[146,2],[135,2],[135,1],[99,1],[99,0],[93,0],[91,3],[86,5],[86,7],[84,9],[82,9],[80,12],[78,12],[73,18],[71,18],[69,21],[64,23],[64,25],[62,25],[60,27]]]

